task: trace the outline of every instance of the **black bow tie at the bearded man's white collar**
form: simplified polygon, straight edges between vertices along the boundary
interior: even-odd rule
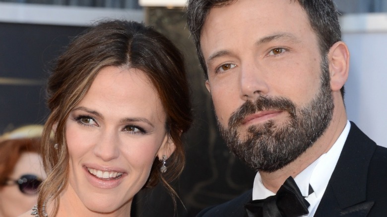
[[[309,203],[290,176],[274,196],[245,204],[246,217],[300,217],[308,214]]]

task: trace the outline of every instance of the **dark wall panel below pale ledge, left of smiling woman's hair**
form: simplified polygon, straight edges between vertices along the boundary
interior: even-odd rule
[[[25,124],[44,124],[45,84],[70,37],[85,27],[0,23],[0,134]]]

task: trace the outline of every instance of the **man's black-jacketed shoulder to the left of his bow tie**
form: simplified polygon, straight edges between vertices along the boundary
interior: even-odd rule
[[[202,210],[196,217],[243,217],[245,204],[252,200],[253,189],[230,200],[224,204],[208,207]]]

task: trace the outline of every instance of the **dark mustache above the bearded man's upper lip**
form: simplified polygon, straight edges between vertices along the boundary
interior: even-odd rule
[[[285,97],[258,96],[255,101],[247,100],[231,114],[228,127],[238,127],[247,116],[268,110],[286,111],[291,118],[296,117],[296,105],[290,99]]]

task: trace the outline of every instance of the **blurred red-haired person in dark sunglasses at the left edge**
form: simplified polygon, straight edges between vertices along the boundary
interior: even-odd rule
[[[0,137],[0,217],[15,217],[35,205],[45,178],[38,153],[43,127],[28,125]]]

